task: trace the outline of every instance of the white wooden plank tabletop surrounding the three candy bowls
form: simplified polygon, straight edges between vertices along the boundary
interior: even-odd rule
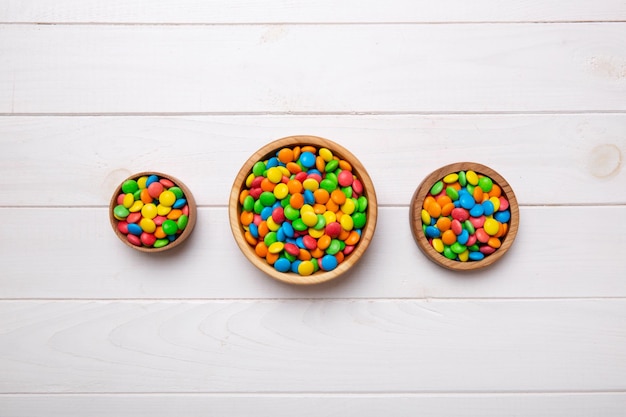
[[[623,416],[626,2],[0,1],[1,416]],[[314,287],[232,238],[245,160],[334,140],[380,204]],[[511,251],[459,275],[408,222],[476,161],[520,202]],[[108,221],[143,170],[199,203],[184,250]]]

